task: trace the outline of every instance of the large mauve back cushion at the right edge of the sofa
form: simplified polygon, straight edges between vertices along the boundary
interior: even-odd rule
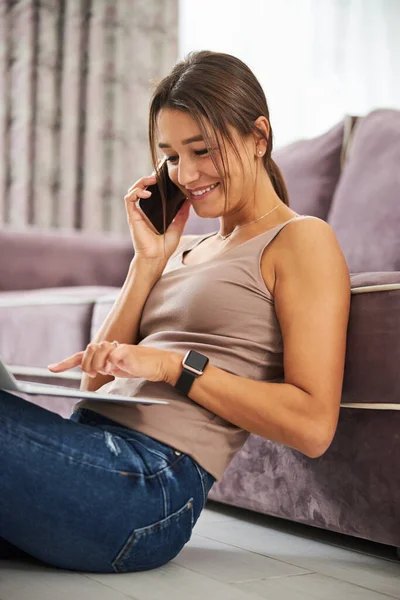
[[[352,273],[400,271],[400,111],[360,119],[328,222]]]

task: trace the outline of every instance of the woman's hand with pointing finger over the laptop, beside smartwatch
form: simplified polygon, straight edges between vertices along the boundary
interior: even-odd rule
[[[107,347],[108,352],[104,352],[105,345],[111,346]],[[119,344],[115,347],[115,344],[111,345],[110,342],[91,343],[86,350],[48,365],[48,369],[53,373],[60,373],[80,366],[89,377],[96,377],[100,373],[114,377],[142,377],[148,381],[168,381],[170,354],[166,350],[132,344]]]

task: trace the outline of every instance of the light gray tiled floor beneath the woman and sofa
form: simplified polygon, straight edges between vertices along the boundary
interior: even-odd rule
[[[171,563],[128,575],[0,561],[0,600],[400,599],[394,548],[209,502]]]

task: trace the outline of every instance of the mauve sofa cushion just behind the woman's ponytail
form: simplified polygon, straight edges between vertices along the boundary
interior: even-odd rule
[[[316,138],[299,140],[272,154],[289,192],[290,208],[326,220],[340,177],[344,122]]]

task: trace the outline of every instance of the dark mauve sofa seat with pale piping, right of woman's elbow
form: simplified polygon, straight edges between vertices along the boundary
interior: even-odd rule
[[[355,273],[350,279],[342,406],[398,409],[400,272]]]

